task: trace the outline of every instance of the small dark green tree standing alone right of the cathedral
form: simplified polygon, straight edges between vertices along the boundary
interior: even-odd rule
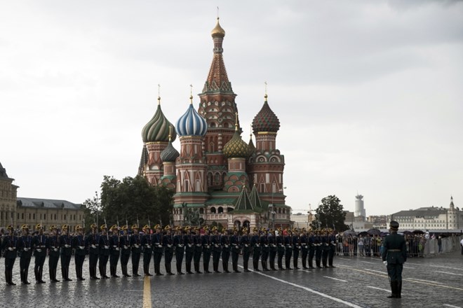
[[[346,213],[340,202],[341,200],[335,195],[324,197],[315,211],[311,228],[334,228],[337,232],[349,229],[349,226],[344,223]]]

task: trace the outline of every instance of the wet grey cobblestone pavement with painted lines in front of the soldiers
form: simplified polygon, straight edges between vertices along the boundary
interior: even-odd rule
[[[0,279],[4,280],[4,260],[0,262]],[[463,308],[463,255],[459,253],[409,258],[403,271],[401,300],[387,298],[389,281],[380,258],[335,257],[337,267],[334,269],[185,274],[146,279],[141,276],[98,281],[88,279],[88,259],[84,268],[87,279],[76,281],[73,260],[70,276],[74,280],[59,283],[49,282],[47,263],[43,274],[47,282],[35,284],[32,258],[31,284],[25,286],[20,284],[19,259],[16,260],[13,281],[18,285],[0,285],[0,307]],[[175,261],[172,268],[175,269]],[[161,269],[164,269],[163,261]],[[58,279],[59,273],[58,265]],[[142,269],[139,273],[142,274]]]

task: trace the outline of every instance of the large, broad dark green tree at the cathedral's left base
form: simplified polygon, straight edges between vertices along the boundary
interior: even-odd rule
[[[100,224],[106,219],[108,227],[116,224],[151,223],[167,225],[173,210],[173,191],[154,187],[143,176],[114,179],[104,176],[101,183]]]

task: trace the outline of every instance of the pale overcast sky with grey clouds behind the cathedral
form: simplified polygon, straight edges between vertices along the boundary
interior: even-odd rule
[[[463,207],[463,2],[423,0],[1,1],[18,196],[81,203],[135,176],[157,85],[171,123],[202,90],[217,6],[242,137],[267,81],[293,213],[328,195],[354,211],[357,193],[367,216]]]

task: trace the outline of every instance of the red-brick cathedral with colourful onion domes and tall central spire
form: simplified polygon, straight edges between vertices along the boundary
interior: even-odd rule
[[[241,139],[236,94],[224,65],[225,31],[219,19],[211,33],[213,61],[196,110],[172,125],[161,110],[143,127],[139,174],[153,186],[175,190],[173,223],[182,225],[195,214],[201,222],[230,228],[278,228],[289,225],[290,207],[283,187],[284,156],[276,148],[280,121],[264,104],[255,116],[246,143]],[[180,153],[173,141],[180,139]]]

